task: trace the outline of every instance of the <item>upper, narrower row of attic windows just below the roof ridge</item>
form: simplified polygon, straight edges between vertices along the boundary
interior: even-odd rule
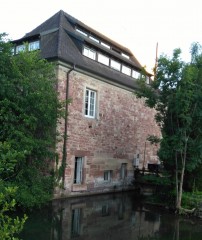
[[[109,44],[101,41],[99,38],[97,38],[96,36],[91,35],[91,34],[88,33],[87,31],[84,31],[83,29],[80,29],[80,28],[76,28],[76,31],[77,31],[78,33],[82,34],[83,36],[88,37],[89,39],[95,41],[96,43],[101,44],[102,46],[104,46],[104,47],[106,47],[106,48],[108,48],[108,49],[111,49],[111,50],[115,51],[116,53],[119,53],[121,56],[123,56],[123,57],[125,57],[125,58],[127,58],[127,59],[130,59],[130,56],[129,56],[129,55],[127,55],[127,54],[121,52],[120,50],[118,50],[118,49],[110,46]]]

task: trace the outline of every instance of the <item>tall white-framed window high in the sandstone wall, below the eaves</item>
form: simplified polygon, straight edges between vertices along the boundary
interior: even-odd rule
[[[95,118],[96,91],[86,89],[85,93],[85,116]]]

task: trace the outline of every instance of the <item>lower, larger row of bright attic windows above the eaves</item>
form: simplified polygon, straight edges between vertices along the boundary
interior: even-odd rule
[[[118,62],[116,61],[115,59],[111,59],[110,57],[102,54],[101,52],[97,52],[96,50],[88,47],[88,46],[84,46],[83,48],[83,55],[92,59],[92,60],[95,60],[99,63],[102,63],[106,66],[109,66],[110,68],[112,69],[115,69],[119,72],[122,72],[132,78],[139,78],[141,76],[141,73],[132,69],[131,67],[129,66],[126,66],[125,64],[121,63],[121,62]],[[146,76],[146,81],[147,83],[149,84],[149,77]]]

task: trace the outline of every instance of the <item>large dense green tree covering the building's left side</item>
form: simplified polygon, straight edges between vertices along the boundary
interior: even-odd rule
[[[52,197],[56,124],[62,113],[54,69],[39,51],[13,56],[6,35],[0,35],[1,178],[18,187],[16,200],[25,207]]]

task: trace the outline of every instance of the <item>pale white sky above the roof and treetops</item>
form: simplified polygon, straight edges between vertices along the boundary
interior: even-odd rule
[[[1,0],[0,33],[18,39],[63,10],[129,48],[151,71],[158,55],[181,48],[189,61],[193,42],[202,44],[201,0]]]

